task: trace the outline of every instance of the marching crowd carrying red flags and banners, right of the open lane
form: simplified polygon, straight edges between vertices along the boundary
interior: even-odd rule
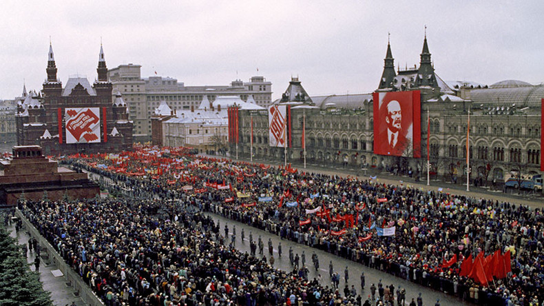
[[[475,303],[543,302],[541,210],[290,167],[191,154],[168,161],[165,151],[157,149],[128,154],[132,154],[128,159],[123,154],[118,159],[69,156],[63,162],[101,174],[128,190],[180,199]],[[134,175],[143,169],[156,174]],[[395,234],[377,236],[374,227],[395,227]],[[482,285],[459,276],[463,258],[497,249],[512,254],[507,278]],[[457,263],[443,267],[454,255]]]

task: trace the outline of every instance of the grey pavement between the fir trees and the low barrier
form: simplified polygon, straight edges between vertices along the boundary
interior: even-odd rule
[[[17,238],[19,245],[25,243],[28,247],[28,238],[30,235],[28,232],[23,229],[19,230],[19,233],[15,232],[15,226],[12,224],[7,227],[10,236]],[[34,258],[36,257],[36,252],[27,252],[27,261],[30,264],[30,270],[34,271]],[[53,300],[54,305],[65,306],[72,305],[72,302],[75,302],[78,306],[83,306],[83,300],[81,298],[74,296],[74,289],[65,284],[65,278],[63,276],[55,277],[52,274],[52,271],[56,270],[56,265],[47,265],[46,261],[43,259],[40,261],[40,281],[43,284],[43,289],[45,291],[51,292],[51,299]],[[60,271],[59,271],[60,272]]]

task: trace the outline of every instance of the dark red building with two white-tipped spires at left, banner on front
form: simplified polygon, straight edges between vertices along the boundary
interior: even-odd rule
[[[93,85],[70,77],[63,88],[50,45],[43,89],[17,105],[17,145],[41,145],[45,155],[131,150],[133,124],[121,94],[113,99],[102,46],[96,71]]]

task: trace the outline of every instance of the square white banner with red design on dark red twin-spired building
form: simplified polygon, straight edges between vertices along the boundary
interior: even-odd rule
[[[66,143],[100,142],[100,108],[65,109]]]

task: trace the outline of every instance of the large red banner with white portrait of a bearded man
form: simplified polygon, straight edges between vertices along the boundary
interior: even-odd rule
[[[419,90],[375,92],[374,154],[421,157]]]

